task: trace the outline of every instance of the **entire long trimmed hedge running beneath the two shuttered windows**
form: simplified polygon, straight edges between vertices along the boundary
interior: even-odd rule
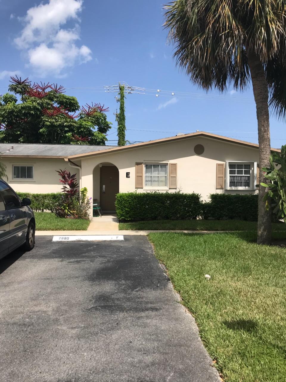
[[[258,195],[211,194],[202,203],[199,194],[122,193],[116,196],[119,220],[239,219],[257,221]]]

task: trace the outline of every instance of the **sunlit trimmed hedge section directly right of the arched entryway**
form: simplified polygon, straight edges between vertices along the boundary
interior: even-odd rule
[[[120,193],[116,195],[119,220],[196,219],[201,215],[199,194]]]

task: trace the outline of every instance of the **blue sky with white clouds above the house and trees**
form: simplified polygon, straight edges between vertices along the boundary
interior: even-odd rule
[[[0,0],[0,94],[14,73],[62,84],[80,105],[109,106],[108,139],[116,144],[116,94],[103,86],[125,81],[154,89],[127,95],[126,138],[132,142],[196,130],[257,142],[252,89],[207,95],[191,84],[166,44],[162,7],[159,0]],[[271,117],[270,128],[272,147],[281,147],[285,124]]]

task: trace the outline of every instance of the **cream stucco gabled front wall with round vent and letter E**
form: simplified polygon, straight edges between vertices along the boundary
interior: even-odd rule
[[[204,153],[196,155],[194,146],[202,144]],[[119,169],[119,192],[135,191],[135,163],[136,162],[165,162],[177,163],[177,190],[161,189],[160,191],[185,193],[199,193],[203,200],[208,199],[211,193],[256,193],[257,191],[225,191],[216,189],[216,163],[233,162],[259,162],[258,149],[238,144],[217,141],[205,137],[182,139],[165,142],[153,146],[138,147],[109,154],[100,154],[81,160],[82,187],[88,188],[88,194],[97,199],[99,192],[100,163],[112,163]],[[79,160],[76,160],[80,163]],[[95,170],[94,170],[95,169]],[[94,172],[93,172],[94,170]],[[130,178],[126,178],[130,172]],[[93,174],[95,175],[93,177]],[[138,189],[138,192],[152,191],[148,188]]]

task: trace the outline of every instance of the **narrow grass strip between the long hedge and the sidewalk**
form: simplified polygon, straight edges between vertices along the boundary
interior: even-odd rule
[[[142,222],[119,223],[119,230],[210,230],[248,231],[256,230],[256,222],[241,220],[146,220]],[[285,223],[273,223],[274,231],[285,231]]]

